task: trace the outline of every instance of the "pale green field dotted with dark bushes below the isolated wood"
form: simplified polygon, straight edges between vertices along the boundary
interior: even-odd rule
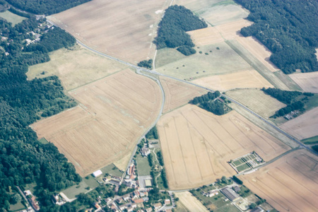
[[[219,50],[216,49],[217,47],[219,47]],[[204,76],[251,69],[251,66],[225,42],[194,48],[196,49],[196,54],[184,58],[179,56],[171,58],[168,60],[170,63],[156,68],[156,71],[180,79],[194,80]],[[170,50],[166,51],[170,52]],[[165,60],[164,53],[158,54],[158,61]],[[160,62],[160,64],[163,64],[163,62]]]

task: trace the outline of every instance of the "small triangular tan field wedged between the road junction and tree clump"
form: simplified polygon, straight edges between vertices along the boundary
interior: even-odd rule
[[[189,100],[192,100],[196,96],[207,93],[207,91],[202,88],[175,81],[167,77],[160,77],[160,82],[165,91],[164,113],[187,104]]]

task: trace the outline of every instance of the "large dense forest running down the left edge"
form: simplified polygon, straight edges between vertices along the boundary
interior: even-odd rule
[[[36,33],[31,33],[36,32]],[[35,46],[25,40],[42,37]],[[23,20],[15,27],[0,19],[0,208],[8,209],[12,188],[36,183],[42,211],[52,206],[50,192],[57,192],[80,182],[81,177],[64,155],[52,144],[37,141],[29,125],[73,107],[76,102],[64,95],[56,76],[28,81],[28,65],[49,60],[47,52],[75,44],[67,33],[47,28],[45,19]],[[42,35],[42,36],[41,36]],[[49,40],[49,37],[59,39]]]

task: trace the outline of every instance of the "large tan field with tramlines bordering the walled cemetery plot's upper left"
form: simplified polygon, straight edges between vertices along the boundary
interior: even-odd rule
[[[265,161],[290,149],[235,111],[223,116],[186,105],[165,114],[158,132],[171,189],[189,189],[235,174],[228,161],[256,151]]]

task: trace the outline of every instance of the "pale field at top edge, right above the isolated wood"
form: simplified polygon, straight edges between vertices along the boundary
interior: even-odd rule
[[[196,15],[201,16],[210,25],[220,25],[246,18],[249,12],[234,1],[220,0],[177,0],[174,4],[183,5],[192,10]]]

